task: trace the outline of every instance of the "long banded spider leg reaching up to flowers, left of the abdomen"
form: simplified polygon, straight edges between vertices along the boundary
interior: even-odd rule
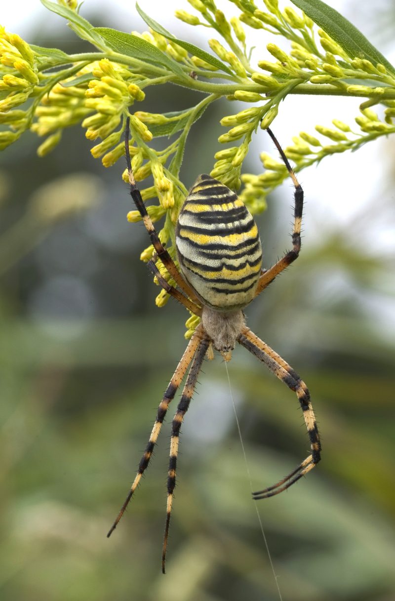
[[[155,230],[153,222],[147,213],[147,209],[145,208],[144,201],[141,198],[141,194],[139,189],[136,186],[135,178],[133,177],[132,172],[132,163],[130,162],[130,153],[129,153],[129,117],[126,120],[126,129],[125,129],[125,156],[126,156],[126,164],[127,164],[127,172],[129,174],[129,183],[130,183],[130,196],[133,198],[133,202],[136,205],[136,209],[140,213],[142,217],[142,222],[144,223],[145,229],[149,233],[151,243],[155,248],[158,257],[161,259],[162,263],[176,281],[177,285],[185,292],[186,296],[193,300],[197,300],[194,291],[189,286],[189,284],[183,279],[176,265],[174,264],[173,259],[170,257],[168,251],[162,245],[161,240],[159,239],[158,233]]]

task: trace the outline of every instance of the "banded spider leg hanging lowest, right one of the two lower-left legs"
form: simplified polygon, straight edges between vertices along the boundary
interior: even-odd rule
[[[169,460],[169,473],[167,479],[167,515],[166,515],[166,526],[165,536],[162,550],[162,572],[165,573],[165,561],[167,551],[167,541],[169,534],[170,515],[171,507],[173,505],[173,492],[176,486],[176,467],[177,467],[177,454],[179,449],[179,436],[180,427],[184,418],[185,413],[188,411],[189,403],[191,403],[192,394],[197,382],[198,374],[203,364],[204,356],[206,355],[207,348],[209,347],[209,338],[202,338],[200,346],[198,347],[194,359],[192,361],[191,368],[188,373],[188,377],[185,382],[184,389],[182,391],[181,400],[177,406],[176,415],[174,415],[173,424],[171,428],[171,441],[170,441],[170,460]]]

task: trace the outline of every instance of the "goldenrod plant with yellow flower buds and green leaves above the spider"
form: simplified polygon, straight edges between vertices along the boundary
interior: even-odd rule
[[[28,44],[19,35],[0,30],[0,147],[6,148],[26,130],[44,138],[40,156],[61,140],[65,127],[81,124],[94,157],[103,166],[114,165],[124,154],[123,132],[130,117],[130,155],[136,182],[150,175],[153,185],[141,190],[150,218],[164,218],[162,243],[175,259],[174,224],[187,190],[179,171],[191,127],[207,107],[226,98],[250,103],[248,108],[221,119],[225,131],[213,160],[212,177],[231,189],[251,213],[265,209],[266,196],[287,177],[283,163],[262,153],[262,174],[242,173],[243,160],[259,128],[266,129],[289,94],[360,97],[360,114],[353,127],[334,118],[317,125],[314,135],[300,132],[285,149],[295,171],[324,157],[348,150],[379,136],[395,132],[395,68],[337,11],[320,0],[293,0],[296,9],[284,10],[277,0],[229,0],[229,14],[215,0],[188,0],[194,13],[177,10],[187,26],[212,29],[207,50],[176,38],[136,4],[149,31],[124,33],[94,27],[79,14],[75,0],[41,0],[48,10],[67,20],[70,28],[89,41],[96,51],[68,55],[59,49]],[[299,10],[297,10],[299,9]],[[237,13],[237,14],[234,14]],[[248,42],[251,29],[278,35],[278,45],[267,44],[272,60],[262,60]],[[284,47],[290,50],[284,50]],[[177,112],[144,111],[145,90],[150,86],[176,85],[197,91],[197,103]],[[202,93],[204,94],[202,99]],[[381,105],[383,118],[373,107]],[[229,110],[231,112],[231,109]],[[318,134],[318,135],[317,135]],[[150,144],[167,136],[162,150]],[[127,172],[123,172],[127,181]],[[241,186],[243,187],[241,188]],[[240,189],[241,188],[241,189]],[[137,211],[129,221],[141,219]],[[141,253],[149,261],[152,246]],[[157,263],[159,272],[169,278]],[[157,297],[159,306],[168,295]],[[189,324],[189,329],[195,325]]]

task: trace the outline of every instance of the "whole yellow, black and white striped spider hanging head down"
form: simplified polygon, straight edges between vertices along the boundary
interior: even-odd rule
[[[165,573],[171,508],[176,486],[180,427],[191,403],[204,357],[207,355],[207,358],[213,358],[213,347],[221,353],[225,361],[230,361],[236,342],[241,344],[259,361],[262,361],[279,380],[295,391],[310,438],[311,454],[277,484],[254,492],[253,498],[265,499],[286,490],[299,478],[310,472],[320,460],[319,433],[307,386],[280,355],[247,328],[243,314],[243,308],[259,296],[279,273],[298,258],[301,248],[303,191],[274,134],[269,128],[267,132],[277,147],[295,186],[292,250],[286,252],[283,258],[269,269],[262,269],[262,247],[253,216],[227,186],[210,175],[199,175],[189,191],[177,219],[176,248],[181,269],[179,272],[167,249],[159,240],[136,186],[129,155],[129,118],[126,122],[125,154],[130,195],[141,214],[156,253],[155,258],[148,263],[149,268],[156,275],[164,290],[189,311],[201,317],[201,322],[189,340],[159,404],[155,424],[129,494],[107,534],[109,537],[117,527],[142,474],[149,465],[170,401],[173,400],[190,365],[171,429],[167,518],[162,549],[163,573]],[[158,258],[176,282],[177,287],[170,285],[159,273],[155,264]]]

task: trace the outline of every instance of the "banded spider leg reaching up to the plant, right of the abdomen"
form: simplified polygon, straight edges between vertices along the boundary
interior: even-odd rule
[[[283,159],[286,168],[289,171],[289,175],[292,178],[293,185],[295,186],[295,213],[293,219],[293,231],[292,231],[292,251],[286,252],[283,258],[281,258],[277,263],[275,263],[270,269],[268,269],[265,273],[263,273],[258,281],[257,290],[255,296],[258,296],[268,286],[271,282],[281,273],[284,269],[286,269],[295,259],[299,257],[299,252],[301,249],[301,226],[302,226],[302,212],[303,212],[303,190],[302,186],[299,184],[298,180],[295,177],[295,173],[293,172],[287,157],[284,154],[283,148],[281,148],[277,139],[275,138],[271,129],[267,129],[269,136],[271,136],[274,144],[277,147],[278,152],[281,155],[281,159]]]

